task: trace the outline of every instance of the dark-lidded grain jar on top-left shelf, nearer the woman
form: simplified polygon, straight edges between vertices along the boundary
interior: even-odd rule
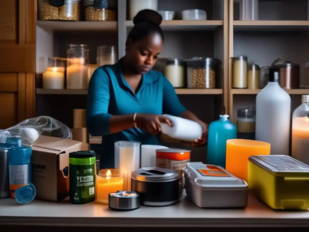
[[[84,0],[86,21],[116,21],[116,9],[108,0]]]

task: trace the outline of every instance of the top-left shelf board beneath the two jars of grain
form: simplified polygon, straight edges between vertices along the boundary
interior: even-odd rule
[[[116,21],[37,21],[47,31],[116,31]]]

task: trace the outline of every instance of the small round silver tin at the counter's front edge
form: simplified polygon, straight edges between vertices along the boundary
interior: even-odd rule
[[[128,211],[140,207],[139,194],[133,191],[117,191],[108,194],[108,207]]]

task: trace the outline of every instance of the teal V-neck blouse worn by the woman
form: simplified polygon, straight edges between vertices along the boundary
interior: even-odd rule
[[[139,128],[110,133],[111,115],[170,114],[180,116],[186,109],[180,103],[174,87],[161,72],[150,70],[142,75],[141,87],[134,94],[122,74],[122,59],[114,65],[104,65],[93,73],[89,82],[86,124],[92,136],[102,136],[100,169],[114,168],[114,143],[139,141],[160,145],[156,135]]]

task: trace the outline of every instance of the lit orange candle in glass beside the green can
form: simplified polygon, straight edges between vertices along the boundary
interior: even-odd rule
[[[119,170],[103,169],[96,177],[96,202],[108,204],[108,194],[123,190],[123,177]]]

